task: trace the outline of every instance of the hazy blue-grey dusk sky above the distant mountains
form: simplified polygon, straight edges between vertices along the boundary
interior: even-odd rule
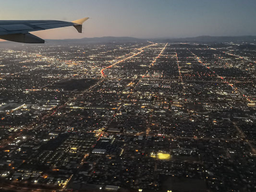
[[[44,39],[95,36],[256,35],[256,0],[0,0],[1,20],[90,17],[73,27],[34,32]]]

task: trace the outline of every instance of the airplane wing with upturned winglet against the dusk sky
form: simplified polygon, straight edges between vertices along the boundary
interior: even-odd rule
[[[44,43],[44,39],[29,32],[74,26],[79,33],[82,33],[82,24],[87,19],[89,18],[85,17],[73,22],[57,20],[0,20],[0,39],[20,43]]]

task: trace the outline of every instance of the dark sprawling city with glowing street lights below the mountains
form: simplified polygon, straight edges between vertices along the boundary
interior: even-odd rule
[[[256,52],[237,46],[0,48],[1,189],[254,192]]]

